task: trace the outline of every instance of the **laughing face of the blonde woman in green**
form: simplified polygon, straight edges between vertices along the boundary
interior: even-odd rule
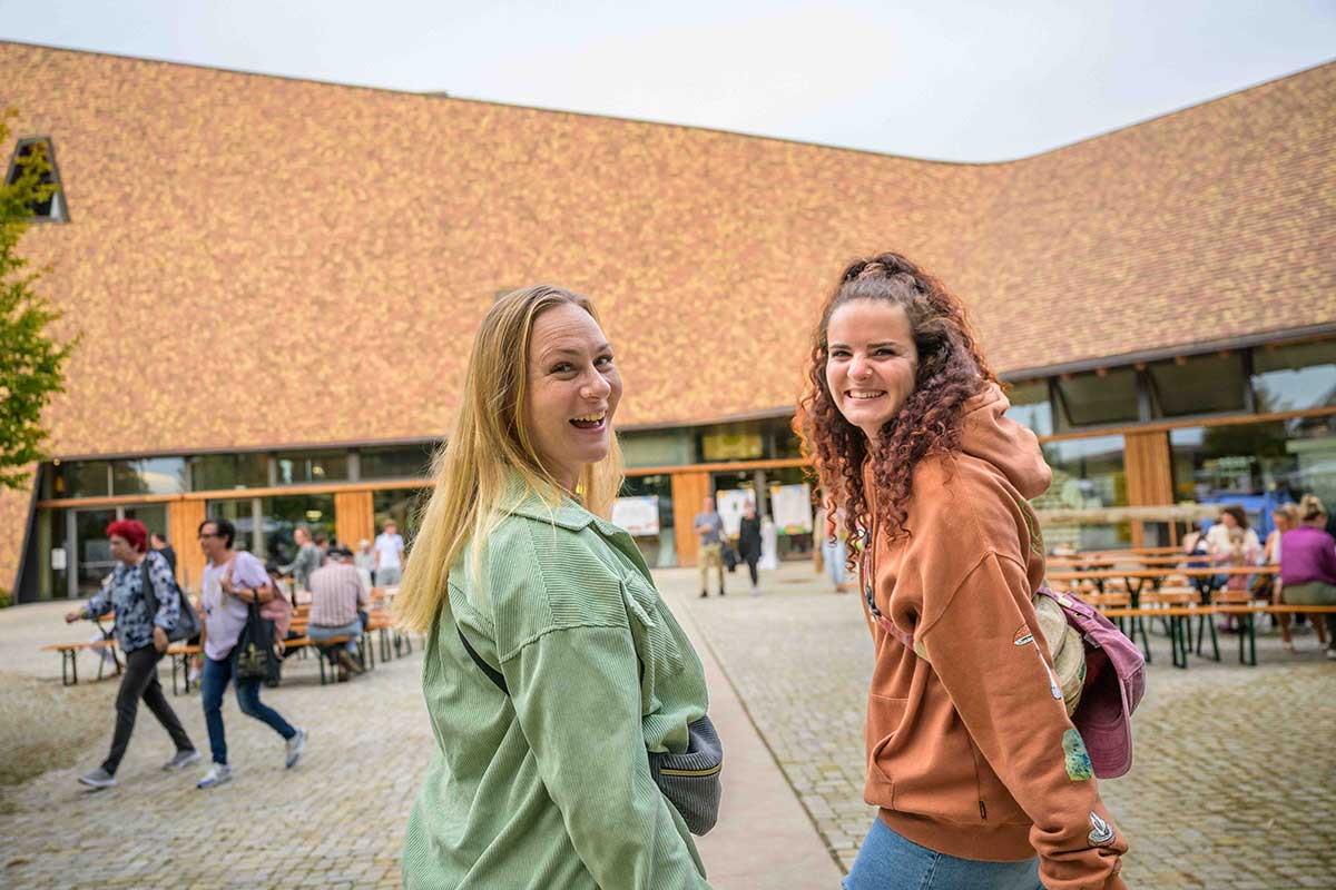
[[[533,322],[526,356],[524,419],[542,466],[574,491],[587,464],[608,456],[621,375],[612,347],[588,312],[573,303]]]

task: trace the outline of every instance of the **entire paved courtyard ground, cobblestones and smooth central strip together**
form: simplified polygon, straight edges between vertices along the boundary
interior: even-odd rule
[[[862,802],[871,644],[858,600],[824,592],[807,566],[768,575],[758,598],[737,575],[727,599],[707,600],[695,598],[695,571],[657,576],[697,640],[727,745],[720,825],[700,841],[712,883],[836,887],[836,863],[852,859],[872,818]],[[64,608],[0,611],[0,671],[29,673],[59,690],[59,659],[36,647],[90,634],[86,624],[63,626]],[[1136,721],[1137,765],[1104,785],[1132,838],[1130,886],[1336,886],[1336,664],[1321,659],[1312,636],[1300,647],[1307,651],[1288,656],[1264,640],[1257,669],[1232,663],[1226,650],[1222,664],[1193,659],[1184,673],[1165,663],[1160,642]],[[420,670],[414,654],[321,687],[315,663],[297,662],[282,689],[265,693],[311,729],[309,754],[291,771],[278,737],[228,698],[238,778],[211,793],[194,789],[196,771],[158,770],[170,743],[146,713],[123,785],[81,790],[75,777],[98,763],[110,738],[115,683],[80,685],[80,698],[104,707],[107,723],[75,766],[7,795],[0,886],[397,886],[403,822],[433,745]],[[198,694],[174,705],[204,746]]]

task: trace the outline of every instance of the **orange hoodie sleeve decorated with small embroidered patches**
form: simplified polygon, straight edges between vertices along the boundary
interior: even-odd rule
[[[1100,801],[1027,591],[1018,562],[986,552],[918,638],[974,743],[1034,822],[1043,886],[1125,890],[1128,845]]]

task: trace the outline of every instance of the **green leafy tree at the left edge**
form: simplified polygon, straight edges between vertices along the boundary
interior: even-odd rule
[[[16,115],[12,108],[0,115],[0,147]],[[43,183],[51,171],[45,145],[20,157],[17,169],[13,183],[0,184],[0,487],[8,488],[24,487],[28,467],[45,458],[41,412],[64,390],[64,364],[77,340],[56,343],[47,334],[60,312],[35,290],[41,272],[19,255],[33,205],[55,192]]]

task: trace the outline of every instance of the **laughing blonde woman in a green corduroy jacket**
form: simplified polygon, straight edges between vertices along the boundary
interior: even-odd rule
[[[603,518],[620,399],[585,298],[540,286],[484,318],[395,604],[428,635],[437,739],[407,887],[708,886],[648,757],[685,750],[700,660]]]

